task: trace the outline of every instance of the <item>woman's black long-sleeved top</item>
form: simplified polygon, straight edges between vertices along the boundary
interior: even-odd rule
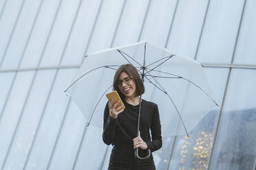
[[[131,145],[137,137],[139,105],[132,106],[123,100],[125,110],[117,119],[109,116],[108,103],[104,111],[103,141],[107,145]],[[151,130],[151,137],[149,134]],[[162,147],[161,124],[158,106],[142,99],[140,112],[140,137],[147,143],[148,149],[156,151]]]

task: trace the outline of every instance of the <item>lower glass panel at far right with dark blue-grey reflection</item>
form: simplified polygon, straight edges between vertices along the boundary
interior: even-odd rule
[[[256,71],[233,69],[210,169],[253,169],[256,158]]]

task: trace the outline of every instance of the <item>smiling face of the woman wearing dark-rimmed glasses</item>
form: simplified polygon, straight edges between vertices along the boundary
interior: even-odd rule
[[[126,98],[136,97],[136,85],[134,80],[132,80],[132,78],[125,72],[120,73],[118,88]]]

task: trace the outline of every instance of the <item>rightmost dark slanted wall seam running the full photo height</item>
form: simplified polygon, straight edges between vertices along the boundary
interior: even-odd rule
[[[241,27],[242,27],[242,21],[243,21],[243,18],[244,18],[244,9],[245,9],[245,7],[246,7],[246,0],[244,0],[244,6],[243,6],[243,9],[242,9],[241,19],[239,21],[239,26],[238,26],[238,29],[237,29],[237,36],[236,36],[236,39],[235,39],[235,46],[234,46],[233,53],[232,53],[231,64],[233,63],[233,60],[235,58],[235,51],[236,51],[236,47],[237,47],[237,41],[238,41],[238,38],[239,38],[240,30],[241,30]],[[218,117],[218,120],[217,120],[217,127],[216,127],[215,136],[214,136],[214,140],[213,140],[213,148],[211,149],[211,155],[210,155],[210,158],[209,158],[208,170],[211,167],[211,159],[213,157],[215,141],[216,141],[216,138],[217,138],[217,133],[219,132],[219,128],[220,128],[220,119],[222,117],[223,107],[224,107],[224,103],[225,103],[225,99],[226,99],[226,92],[227,92],[227,89],[228,89],[228,83],[229,83],[230,76],[231,76],[231,70],[232,70],[232,68],[230,68],[228,70],[228,78],[226,80],[226,87],[225,87],[225,91],[224,91],[224,97],[222,99],[222,106],[220,108],[220,114],[219,114],[219,117]]]

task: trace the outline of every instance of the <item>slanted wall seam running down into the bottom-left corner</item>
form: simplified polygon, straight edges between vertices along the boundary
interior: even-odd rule
[[[56,19],[57,14],[58,14],[58,10],[59,10],[59,8],[60,8],[60,6],[61,6],[61,1],[62,1],[62,0],[60,0],[60,3],[58,4],[58,8],[57,8],[57,10],[56,10],[56,14],[55,14],[55,16],[54,16],[54,20],[53,20],[52,26],[50,27],[50,32],[49,32],[49,34],[48,34],[48,36],[47,36],[47,40],[45,41],[45,46],[43,47],[43,51],[42,51],[42,53],[41,53],[41,57],[40,57],[40,60],[39,60],[39,63],[38,63],[38,65],[37,65],[37,67],[39,67],[39,65],[40,65],[40,63],[41,63],[41,60],[42,60],[42,58],[43,58],[43,54],[44,54],[44,52],[45,52],[45,48],[46,48],[46,46],[47,46],[48,40],[49,40],[49,38],[50,38],[50,34],[51,34],[51,32],[52,32],[52,27],[54,26],[54,22],[55,22],[55,19]],[[18,119],[18,121],[17,121],[17,125],[16,125],[16,127],[15,127],[14,133],[12,134],[12,139],[11,139],[10,145],[9,145],[9,147],[8,147],[8,151],[7,151],[7,154],[6,154],[6,158],[5,158],[4,161],[3,161],[2,169],[3,169],[4,166],[6,165],[6,160],[7,160],[7,158],[8,158],[9,153],[10,153],[10,147],[12,146],[12,143],[13,143],[13,141],[14,141],[14,136],[16,135],[17,129],[18,129],[19,124],[20,124],[20,122],[21,122],[21,117],[23,116],[23,112],[24,112],[24,110],[25,110],[25,106],[26,106],[26,103],[27,103],[27,101],[28,101],[28,97],[30,96],[31,88],[32,88],[32,86],[33,86],[33,84],[34,84],[34,80],[35,80],[35,77],[36,77],[36,73],[37,73],[37,70],[35,71],[34,76],[33,76],[33,78],[32,78],[32,82],[31,82],[30,88],[29,88],[30,90],[28,91],[28,94],[27,94],[27,96],[26,96],[26,98],[25,98],[25,102],[24,102],[23,108],[22,108],[22,110],[21,110],[21,114],[20,114],[19,119]]]

